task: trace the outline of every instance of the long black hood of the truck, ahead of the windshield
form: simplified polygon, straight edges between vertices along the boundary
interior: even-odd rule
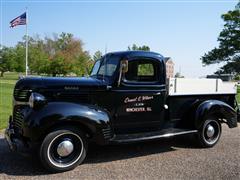
[[[29,77],[20,79],[15,86],[16,89],[104,89],[106,83],[91,77]]]

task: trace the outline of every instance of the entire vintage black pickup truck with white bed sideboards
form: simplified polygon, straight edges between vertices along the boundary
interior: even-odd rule
[[[212,147],[222,123],[237,127],[235,95],[236,85],[219,79],[166,79],[158,53],[108,53],[90,77],[19,80],[5,137],[11,150],[37,147],[54,172],[81,164],[89,142],[195,134],[202,147]]]

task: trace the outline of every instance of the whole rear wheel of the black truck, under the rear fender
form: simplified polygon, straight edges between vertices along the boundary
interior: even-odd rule
[[[221,137],[222,128],[220,122],[215,118],[208,118],[198,132],[198,140],[201,147],[213,147]]]

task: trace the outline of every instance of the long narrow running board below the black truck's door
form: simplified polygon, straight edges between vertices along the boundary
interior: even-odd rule
[[[166,129],[164,131],[154,131],[147,133],[138,133],[138,134],[124,134],[124,135],[115,135],[110,142],[112,143],[130,143],[137,141],[146,141],[159,138],[168,138],[184,134],[192,134],[198,132],[197,130],[186,130],[186,129]]]

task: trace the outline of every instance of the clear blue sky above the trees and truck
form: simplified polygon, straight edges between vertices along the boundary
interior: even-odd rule
[[[200,57],[218,45],[223,28],[221,14],[236,0],[196,1],[12,1],[1,0],[1,44],[14,46],[25,27],[9,28],[9,22],[29,12],[29,35],[51,36],[69,32],[84,42],[84,49],[126,50],[133,43],[172,57],[175,72],[200,77],[219,65],[202,67]]]

